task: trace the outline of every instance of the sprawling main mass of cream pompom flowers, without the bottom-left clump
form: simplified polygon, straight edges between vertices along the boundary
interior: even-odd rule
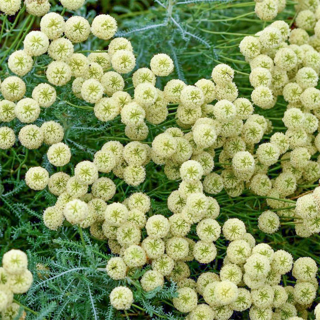
[[[263,233],[277,232],[283,217],[293,220],[300,237],[320,232],[320,187],[296,197],[297,201],[289,199],[298,185],[320,178],[319,160],[315,160],[320,151],[320,135],[316,134],[320,131],[320,91],[316,88],[320,4],[315,7],[311,1],[301,0],[296,9],[298,28],[291,30],[285,21],[278,20],[243,38],[239,49],[251,67],[251,100],[241,97],[241,88],[234,82],[236,71],[224,63],[213,67],[210,79],[194,84],[171,79],[161,90],[156,86],[157,77],[172,74],[173,60],[166,53],[157,53],[148,66],[136,68],[131,42],[114,37],[117,22],[112,16],[88,18],[90,24],[81,16],[65,20],[58,13],[48,13],[47,0],[26,0],[25,4],[30,14],[42,17],[40,31],[30,31],[23,50],[8,57],[8,68],[16,76],[0,82],[4,98],[0,120],[16,119],[19,126],[12,128],[18,128],[18,140],[25,150],[47,146],[45,160],[56,172],[49,174],[52,171],[45,165],[28,165],[24,177],[30,189],[48,186],[57,197],[54,205],[44,209],[44,225],[50,230],[63,224],[89,228],[92,237],[108,243],[113,256],[105,271],[112,280],[120,281],[109,294],[113,308],[131,308],[134,294],[131,280],[127,280],[132,270],[140,269],[144,292],[160,290],[168,281],[177,283],[172,304],[186,320],[224,320],[234,311],[244,310],[249,310],[252,320],[301,319],[298,312],[303,315],[316,297],[316,262],[310,257],[293,261],[289,252],[274,251],[266,243],[256,245],[237,218],[223,219],[222,225],[216,220],[219,196],[213,196],[224,192],[236,198],[250,190],[266,198],[269,208],[263,207],[257,217],[257,227]],[[84,0],[61,0],[61,4],[75,11]],[[257,0],[255,12],[269,21],[284,7],[283,0]],[[0,0],[5,14],[12,15],[19,8],[20,1]],[[309,36],[308,32],[314,34]],[[78,43],[93,36],[108,41],[108,52],[93,51],[86,56],[75,51]],[[47,81],[37,84],[26,97],[21,77],[41,55],[50,61],[42,75]],[[133,95],[124,89],[128,79],[132,79],[128,89],[133,89]],[[41,113],[61,100],[59,90],[66,85],[85,107],[67,104],[92,109],[103,123],[120,119],[125,126],[124,141],[128,141],[124,145],[116,137],[108,140],[92,152],[91,159],[73,163],[71,175],[64,170],[73,153],[67,133],[65,137],[68,128],[41,120]],[[271,135],[272,122],[254,113],[254,106],[271,109],[278,96],[288,102],[282,118],[286,131]],[[175,107],[168,108],[169,104]],[[172,109],[176,109],[173,121],[177,125],[160,128]],[[40,121],[41,126],[36,125]],[[161,133],[151,134],[149,124]],[[1,149],[18,143],[12,128],[0,127]],[[145,141],[149,136],[152,141]],[[216,154],[219,162],[215,164]],[[114,177],[138,187],[144,183],[151,161],[164,167],[168,180],[179,182],[167,198],[168,217],[150,210],[148,193],[135,189],[120,202],[114,198],[120,193]],[[276,164],[277,172],[270,174]],[[219,169],[214,170],[215,166]],[[286,203],[291,206],[286,208]],[[220,237],[228,246],[223,265],[216,270],[219,275],[203,272],[192,279],[187,262],[203,266],[215,262]],[[31,285],[27,263],[19,250],[4,254],[0,268],[0,311],[4,316],[19,311],[12,303],[13,293],[26,292]],[[290,272],[296,279],[293,286],[285,285],[285,275]],[[320,316],[319,307],[315,314]]]

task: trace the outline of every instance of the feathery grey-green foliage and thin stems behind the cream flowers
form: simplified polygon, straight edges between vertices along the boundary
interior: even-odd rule
[[[244,1],[192,1],[177,0],[164,1],[88,1],[90,10],[81,9],[78,14],[89,21],[97,13],[105,13],[108,10],[115,16],[119,23],[117,36],[127,37],[133,45],[137,57],[137,67],[148,66],[150,58],[155,53],[169,54],[175,63],[173,77],[180,78],[188,84],[193,84],[201,77],[209,78],[212,67],[219,62],[230,64],[237,72],[235,82],[241,92],[240,96],[249,97],[252,91],[248,81],[250,73],[249,65],[243,60],[238,44],[245,35],[251,35],[263,28],[263,22],[253,13],[254,2]],[[99,11],[100,10],[100,11]],[[105,10],[105,11],[104,11]],[[53,2],[51,11],[62,11],[59,4]],[[288,19],[294,13],[291,1],[278,18]],[[68,13],[69,14],[69,13]],[[70,12],[72,14],[72,12]],[[17,35],[28,15],[22,13],[17,25],[12,30],[10,19],[5,23],[5,30],[1,39],[1,70],[0,77],[11,75],[7,68],[6,58],[14,50],[21,47],[21,39]],[[1,24],[4,16],[0,17]],[[34,25],[38,26],[39,19],[32,18]],[[29,28],[29,29],[30,29]],[[10,32],[7,32],[10,30]],[[27,30],[27,29],[26,29]],[[26,30],[22,30],[21,36]],[[241,30],[241,31],[240,31]],[[92,37],[91,40],[94,38]],[[12,43],[14,45],[12,46]],[[95,39],[75,46],[76,51],[105,49],[108,43]],[[23,77],[27,84],[26,96],[36,84],[45,79],[44,66],[48,64],[48,58],[38,58],[36,67]],[[34,76],[34,74],[36,74]],[[162,87],[168,77],[159,79],[156,84]],[[126,81],[126,88],[131,87],[131,80]],[[64,141],[71,148],[71,162],[63,167],[63,171],[73,173],[75,164],[80,160],[92,159],[93,153],[101,148],[108,140],[119,140],[126,143],[128,139],[124,135],[124,125],[120,117],[114,121],[102,123],[92,113],[92,106],[76,99],[68,84],[57,89],[59,99],[51,108],[44,110],[35,124],[41,125],[44,121],[58,119],[65,128]],[[132,93],[132,89],[129,90]],[[2,97],[0,97],[2,98]],[[76,108],[68,101],[76,106]],[[285,110],[283,101],[279,101],[272,110],[256,112],[264,116],[281,118]],[[174,116],[160,125],[148,124],[149,136],[147,141],[151,143],[156,134],[165,128],[174,125]],[[281,121],[274,121],[274,126],[282,127]],[[14,120],[9,126],[15,132],[19,132],[22,124]],[[284,130],[278,129],[278,131]],[[267,140],[268,137],[265,137]],[[27,306],[33,312],[27,311],[28,319],[123,319],[124,316],[132,319],[183,319],[184,317],[174,310],[171,298],[175,295],[175,284],[169,282],[162,290],[144,292],[138,281],[144,273],[143,270],[133,270],[128,279],[114,281],[104,271],[111,257],[106,241],[101,241],[90,236],[87,230],[82,232],[78,228],[66,223],[58,231],[50,231],[44,227],[41,216],[44,208],[53,205],[56,197],[47,190],[35,192],[30,190],[24,180],[24,174],[28,167],[41,165],[50,174],[56,172],[46,158],[46,147],[32,150],[26,153],[26,149],[19,143],[11,150],[1,151],[1,256],[11,248],[20,248],[28,252],[29,269],[34,274],[34,283],[31,289],[24,295],[17,296],[16,300]],[[218,162],[219,150],[215,161]],[[269,172],[273,176],[279,171],[280,166],[274,165]],[[221,169],[219,165],[216,171]],[[143,191],[152,198],[152,206],[148,215],[161,213],[169,216],[166,207],[168,194],[178,186],[177,181],[168,181],[163,169],[153,163],[147,165],[147,179],[138,187],[130,187],[112,174],[117,188],[114,201],[123,201],[132,192]],[[297,194],[306,191],[299,188]],[[247,231],[252,233],[257,243],[267,242],[274,249],[284,249],[291,252],[294,258],[310,256],[318,259],[319,236],[301,239],[295,236],[292,226],[283,226],[281,231],[273,235],[265,235],[257,228],[257,217],[265,210],[266,203],[263,197],[252,196],[249,190],[245,190],[242,196],[229,198],[225,191],[216,196],[221,214],[218,221],[222,223],[228,217],[238,217],[244,221]],[[284,207],[286,204],[284,204]],[[144,234],[143,236],[146,236]],[[191,237],[196,238],[195,228],[192,228]],[[217,272],[221,265],[221,259],[225,256],[226,241],[220,238],[217,241],[218,257],[216,262],[208,266],[190,262],[191,277],[203,271]],[[37,271],[37,265],[47,268]],[[284,282],[291,279],[284,277]],[[108,300],[111,290],[118,285],[129,285],[133,290],[134,304],[132,312],[127,315],[116,312]],[[319,298],[317,298],[318,302]],[[247,318],[247,314],[237,315],[235,318]]]

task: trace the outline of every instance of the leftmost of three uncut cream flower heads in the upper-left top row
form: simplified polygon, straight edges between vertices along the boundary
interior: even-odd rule
[[[65,30],[65,21],[60,14],[49,12],[41,18],[40,29],[50,40],[54,40],[62,36]]]

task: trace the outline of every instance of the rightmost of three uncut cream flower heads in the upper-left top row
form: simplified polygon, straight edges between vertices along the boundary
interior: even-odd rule
[[[91,32],[100,39],[108,40],[115,35],[116,31],[116,19],[108,14],[100,14],[92,21]]]

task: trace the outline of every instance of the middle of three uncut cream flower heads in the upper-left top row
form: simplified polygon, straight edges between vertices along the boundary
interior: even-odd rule
[[[83,17],[73,16],[65,23],[64,33],[71,42],[77,43],[87,40],[90,31],[90,24]]]

